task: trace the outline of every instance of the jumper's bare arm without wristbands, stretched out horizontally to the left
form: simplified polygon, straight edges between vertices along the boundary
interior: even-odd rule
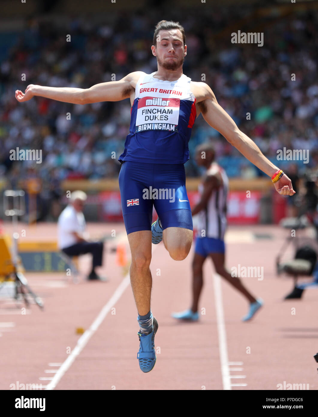
[[[108,81],[107,83],[96,84],[86,89],[72,87],[44,87],[41,85],[30,84],[26,88],[25,94],[20,90],[16,90],[15,98],[19,102],[23,102],[38,95],[40,97],[73,104],[120,101],[130,97],[130,94],[135,88],[134,81],[138,79],[140,74],[140,71],[136,71],[126,75],[119,81]]]

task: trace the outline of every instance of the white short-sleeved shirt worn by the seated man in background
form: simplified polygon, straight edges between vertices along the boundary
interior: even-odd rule
[[[72,232],[83,234],[86,227],[85,217],[71,205],[64,208],[58,218],[58,247],[59,249],[75,245],[77,239]]]

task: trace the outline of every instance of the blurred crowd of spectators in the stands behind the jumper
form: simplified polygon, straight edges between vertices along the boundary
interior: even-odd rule
[[[183,72],[194,81],[205,80],[240,130],[276,165],[288,165],[276,159],[277,150],[285,147],[309,151],[308,164],[293,161],[296,171],[317,167],[318,13],[252,22],[248,8],[210,10],[206,13],[206,8],[198,7],[170,13],[169,18],[185,28],[188,54]],[[58,198],[58,184],[65,178],[116,178],[129,132],[128,99],[73,105],[36,97],[18,103],[15,90],[24,91],[29,84],[89,88],[113,80],[114,75],[119,80],[135,70],[151,73],[157,70],[157,61],[150,47],[161,18],[163,14],[153,9],[105,16],[103,24],[93,18],[53,20],[50,25],[30,19],[22,32],[1,33],[0,178],[7,178],[15,188],[25,176],[37,175],[48,199],[53,194]],[[263,32],[263,47],[231,43],[227,30],[231,27]],[[70,42],[66,42],[68,34]],[[190,157],[195,146],[207,139],[215,144],[218,161],[229,177],[264,175],[202,116],[193,127]],[[10,161],[9,151],[16,147],[42,149],[43,162]],[[191,159],[185,168],[188,176],[200,175]]]

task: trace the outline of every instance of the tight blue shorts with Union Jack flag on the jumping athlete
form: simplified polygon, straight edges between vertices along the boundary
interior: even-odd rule
[[[183,163],[124,161],[120,167],[119,189],[127,234],[151,230],[153,206],[163,229],[193,230]]]

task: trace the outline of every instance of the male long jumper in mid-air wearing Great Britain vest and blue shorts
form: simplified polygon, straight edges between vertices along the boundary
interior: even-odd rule
[[[187,55],[184,28],[177,22],[161,20],[155,27],[152,53],[158,70],[146,74],[134,71],[119,81],[90,88],[43,87],[30,84],[17,90],[19,102],[33,96],[66,103],[86,104],[130,98],[130,131],[120,155],[121,205],[131,250],[130,281],[138,310],[140,369],[149,372],[156,361],[155,333],[158,322],[150,309],[152,278],[151,242],[163,240],[172,259],[188,255],[193,237],[191,208],[185,189],[183,164],[189,159],[188,142],[195,119],[202,113],[205,121],[219,131],[268,176],[283,196],[295,193],[290,179],[271,163],[258,146],[239,130],[219,106],[211,88],[191,81],[183,74]],[[175,198],[143,198],[144,189],[173,189]],[[153,206],[158,214],[151,225]]]

